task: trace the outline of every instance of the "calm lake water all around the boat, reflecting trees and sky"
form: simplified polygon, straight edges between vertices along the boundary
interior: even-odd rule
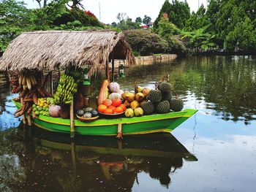
[[[183,58],[118,82],[154,88],[166,74],[198,112],[172,134],[122,141],[23,128],[0,88],[0,191],[255,191],[256,58]]]

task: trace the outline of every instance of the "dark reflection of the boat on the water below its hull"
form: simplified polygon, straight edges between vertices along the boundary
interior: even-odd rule
[[[121,141],[76,137],[70,142],[69,136],[35,127],[0,133],[0,189],[4,190],[131,191],[140,183],[140,172],[168,187],[171,174],[181,169],[184,160],[197,161],[171,134],[125,137]],[[5,143],[6,139],[10,142]],[[6,155],[9,150],[14,155]]]

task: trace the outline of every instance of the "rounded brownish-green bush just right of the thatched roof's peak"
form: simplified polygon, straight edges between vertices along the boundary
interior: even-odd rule
[[[165,53],[167,42],[157,34],[148,30],[128,30],[124,35],[131,45],[135,55],[152,55],[153,53]]]

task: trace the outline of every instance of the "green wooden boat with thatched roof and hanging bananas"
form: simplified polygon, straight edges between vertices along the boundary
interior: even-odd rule
[[[78,39],[84,40],[78,43],[76,42]],[[49,42],[51,42],[50,45]],[[70,47],[74,48],[72,52],[70,52]],[[15,117],[22,115],[23,124],[27,123],[32,126],[34,123],[39,128],[51,132],[67,133],[70,137],[78,134],[121,138],[123,135],[132,134],[170,133],[197,112],[197,110],[186,109],[180,112],[133,118],[115,116],[108,119],[102,116],[92,122],[77,120],[74,108],[76,107],[75,101],[78,99],[75,99],[74,93],[80,91],[82,107],[88,107],[89,104],[85,103],[86,99],[89,99],[91,88],[87,80],[89,76],[105,70],[106,80],[102,82],[102,88],[99,91],[99,94],[102,94],[98,98],[105,97],[108,85],[110,85],[110,61],[112,64],[111,81],[114,82],[115,79],[115,59],[125,60],[126,66],[136,65],[132,49],[122,33],[118,34],[116,31],[34,31],[20,34],[7,47],[0,59],[0,71],[16,74],[12,79],[12,92],[19,93],[19,96],[13,100],[18,108]],[[124,72],[120,68],[119,72],[121,71]],[[81,83],[82,79],[83,83]],[[58,88],[54,85],[56,82],[59,84]],[[39,99],[45,97],[59,104],[65,114],[69,113],[66,115],[69,118],[50,117],[48,110],[50,103],[45,106],[39,102]],[[121,99],[119,100],[121,104]],[[97,104],[100,104],[99,99]],[[39,107],[41,109],[37,111]],[[42,110],[42,107],[46,108]],[[78,109],[75,108],[75,110]]]

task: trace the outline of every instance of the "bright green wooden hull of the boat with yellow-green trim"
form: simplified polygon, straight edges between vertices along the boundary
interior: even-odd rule
[[[21,104],[15,102],[20,108]],[[169,132],[181,125],[185,120],[195,114],[197,110],[186,109],[181,112],[145,115],[134,118],[99,119],[90,123],[75,120],[75,134],[116,136],[118,125],[121,125],[123,135],[151,134],[156,132]],[[34,118],[34,125],[48,131],[70,134],[70,120],[51,118],[39,115]]]

